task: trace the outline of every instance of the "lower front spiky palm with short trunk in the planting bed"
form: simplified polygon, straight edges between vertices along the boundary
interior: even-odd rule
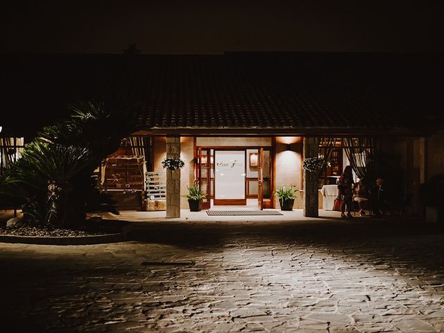
[[[71,191],[76,180],[87,175],[89,163],[86,148],[35,139],[25,145],[4,182],[15,189],[10,193],[22,198],[23,212],[29,219],[65,227],[70,220],[67,205]]]

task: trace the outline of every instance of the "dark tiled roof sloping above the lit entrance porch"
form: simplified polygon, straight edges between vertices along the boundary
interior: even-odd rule
[[[3,110],[12,110],[12,123],[24,113],[24,126],[47,123],[54,114],[62,117],[68,101],[110,92],[144,103],[144,110],[134,114],[136,129],[142,130],[257,128],[258,133],[297,133],[421,126],[411,108],[418,103],[411,94],[415,89],[399,76],[403,66],[394,56],[8,57],[1,80]],[[404,62],[411,64],[409,59]]]

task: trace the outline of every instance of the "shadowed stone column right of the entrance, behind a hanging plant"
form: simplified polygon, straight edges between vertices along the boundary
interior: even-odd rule
[[[318,137],[304,137],[304,159],[318,156]],[[304,216],[318,217],[318,173],[303,170]]]

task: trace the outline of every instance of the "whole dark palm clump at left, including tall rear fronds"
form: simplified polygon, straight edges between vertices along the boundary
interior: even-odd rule
[[[125,105],[118,100],[69,105],[71,117],[46,126],[0,178],[0,198],[23,204],[35,223],[62,228],[83,221],[88,209],[117,213],[92,174],[134,130],[128,119],[139,105]]]

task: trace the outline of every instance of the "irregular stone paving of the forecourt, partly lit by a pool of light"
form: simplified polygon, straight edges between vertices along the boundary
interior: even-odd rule
[[[359,222],[358,222],[359,220]],[[352,222],[143,225],[0,244],[2,332],[441,332],[444,232]]]

